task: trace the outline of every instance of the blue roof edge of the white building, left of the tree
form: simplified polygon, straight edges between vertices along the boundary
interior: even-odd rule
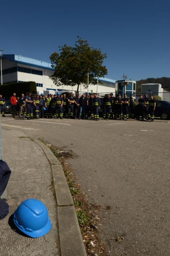
[[[29,66],[33,66],[33,67],[54,70],[54,68],[51,67],[51,63],[41,61],[41,60],[31,59],[31,58],[24,57],[24,56],[17,55],[17,54],[3,54],[3,59],[8,59],[9,61],[13,61],[16,63],[29,65]]]

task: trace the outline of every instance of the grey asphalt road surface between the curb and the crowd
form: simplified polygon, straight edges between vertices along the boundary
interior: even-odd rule
[[[1,124],[77,155],[68,164],[88,202],[100,206],[107,255],[169,255],[169,121],[5,117]]]

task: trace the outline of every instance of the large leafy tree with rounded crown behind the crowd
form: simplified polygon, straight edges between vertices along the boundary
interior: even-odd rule
[[[78,92],[80,84],[87,84],[88,72],[88,81],[91,84],[96,84],[94,77],[104,77],[107,74],[103,65],[106,53],[90,47],[87,40],[78,37],[74,47],[64,44],[59,46],[59,51],[60,53],[54,52],[50,56],[52,67],[55,68],[51,78],[56,86],[77,85]]]

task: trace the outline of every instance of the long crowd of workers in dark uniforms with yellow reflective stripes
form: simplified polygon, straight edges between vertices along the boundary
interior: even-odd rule
[[[0,112],[4,116],[4,102],[5,99],[0,95]],[[124,94],[122,98],[120,94],[113,96],[113,93],[105,94],[104,98],[99,98],[96,93],[94,94],[79,94],[70,93],[70,95],[62,94],[59,92],[56,94],[39,95],[27,93],[25,96],[21,94],[21,97],[16,97],[16,93],[10,98],[12,105],[12,116],[27,118],[74,118],[79,120],[99,120],[99,108],[102,107],[103,119],[120,119],[128,120],[135,118],[142,120],[154,121],[155,100],[153,95],[150,95],[150,99],[147,98],[147,94],[143,98],[140,95],[138,104],[135,101],[133,94],[130,98]],[[125,119],[126,117],[126,119]]]

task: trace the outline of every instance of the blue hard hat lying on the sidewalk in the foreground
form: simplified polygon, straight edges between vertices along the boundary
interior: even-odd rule
[[[36,199],[23,201],[13,214],[13,222],[27,236],[44,236],[51,228],[46,206]]]

